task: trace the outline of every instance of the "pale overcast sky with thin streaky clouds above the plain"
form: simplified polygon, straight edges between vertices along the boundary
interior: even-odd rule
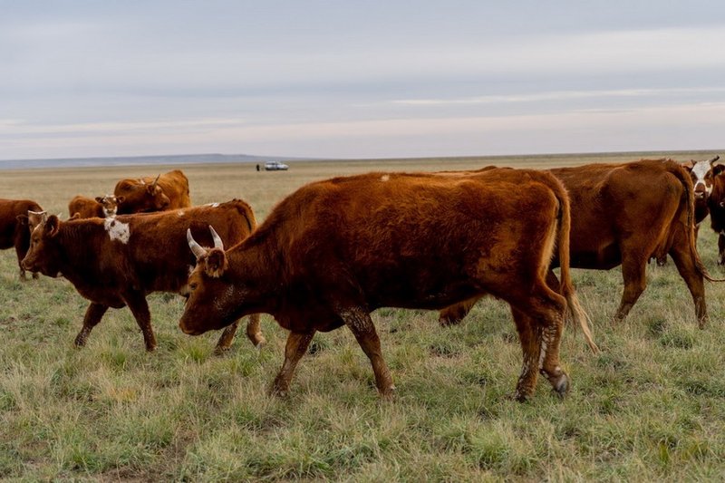
[[[0,12],[0,160],[725,147],[722,0],[0,0]]]

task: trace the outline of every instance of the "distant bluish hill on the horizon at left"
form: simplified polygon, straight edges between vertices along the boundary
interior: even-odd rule
[[[6,159],[0,169],[80,168],[97,166],[143,166],[199,163],[264,163],[266,161],[304,160],[280,156],[248,154],[174,154],[168,156],[118,156],[110,158]]]

